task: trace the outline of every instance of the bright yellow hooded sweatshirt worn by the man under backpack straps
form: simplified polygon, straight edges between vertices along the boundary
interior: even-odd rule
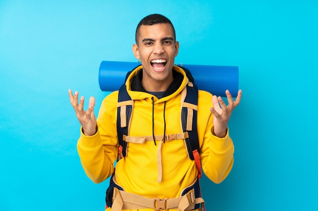
[[[152,136],[152,114],[154,115],[154,135],[164,134],[164,102],[166,134],[182,133],[181,129],[181,91],[188,83],[184,71],[174,66],[174,70],[183,74],[179,89],[173,94],[157,99],[155,96],[131,90],[131,81],[142,67],[138,67],[129,76],[127,90],[134,100],[130,136]],[[152,102],[151,98],[154,98]],[[117,141],[117,100],[118,91],[108,95],[102,102],[97,118],[98,131],[87,137],[82,133],[78,140],[78,153],[87,176],[94,182],[106,180],[114,172],[114,162],[118,154]],[[152,112],[154,103],[154,112]],[[204,174],[214,183],[223,181],[233,165],[234,146],[229,134],[225,138],[212,135],[213,115],[212,95],[199,91],[198,99],[198,137],[200,160]],[[228,130],[229,131],[229,130]],[[116,164],[116,181],[127,192],[149,198],[175,198],[198,176],[194,160],[187,155],[183,139],[162,143],[162,181],[157,182],[157,151],[161,140],[147,141],[144,144],[129,143],[128,156]],[[152,209],[149,209],[152,210]]]

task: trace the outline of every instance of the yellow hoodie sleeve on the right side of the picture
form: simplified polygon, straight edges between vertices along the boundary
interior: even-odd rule
[[[212,105],[212,95],[199,91],[198,136],[202,170],[211,181],[220,183],[229,175],[233,166],[234,145],[229,136],[229,129],[225,138],[218,138],[212,134]]]

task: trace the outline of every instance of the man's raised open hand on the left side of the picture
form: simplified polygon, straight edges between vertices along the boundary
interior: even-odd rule
[[[94,114],[94,105],[95,105],[95,98],[90,97],[88,103],[88,109],[84,111],[84,97],[82,96],[80,99],[80,103],[78,104],[78,92],[75,91],[73,96],[72,91],[69,90],[69,97],[71,104],[75,110],[76,116],[82,125],[83,133],[85,136],[92,136],[96,134],[96,117]]]

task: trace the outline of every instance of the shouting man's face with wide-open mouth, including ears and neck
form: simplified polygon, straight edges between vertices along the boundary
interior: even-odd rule
[[[174,40],[172,26],[168,23],[151,26],[142,25],[139,30],[137,45],[133,52],[143,66],[142,83],[147,90],[151,85],[160,87],[170,85],[173,80],[172,67],[174,58],[178,55],[179,43]],[[147,90],[165,91],[165,90]]]

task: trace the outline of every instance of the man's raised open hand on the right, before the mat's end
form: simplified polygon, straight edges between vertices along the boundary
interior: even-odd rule
[[[226,105],[221,97],[213,95],[212,103],[214,108],[210,108],[213,113],[214,135],[219,138],[224,138],[227,135],[228,123],[234,108],[240,103],[242,97],[242,90],[238,91],[236,100],[233,101],[229,90],[226,91],[229,105]]]

